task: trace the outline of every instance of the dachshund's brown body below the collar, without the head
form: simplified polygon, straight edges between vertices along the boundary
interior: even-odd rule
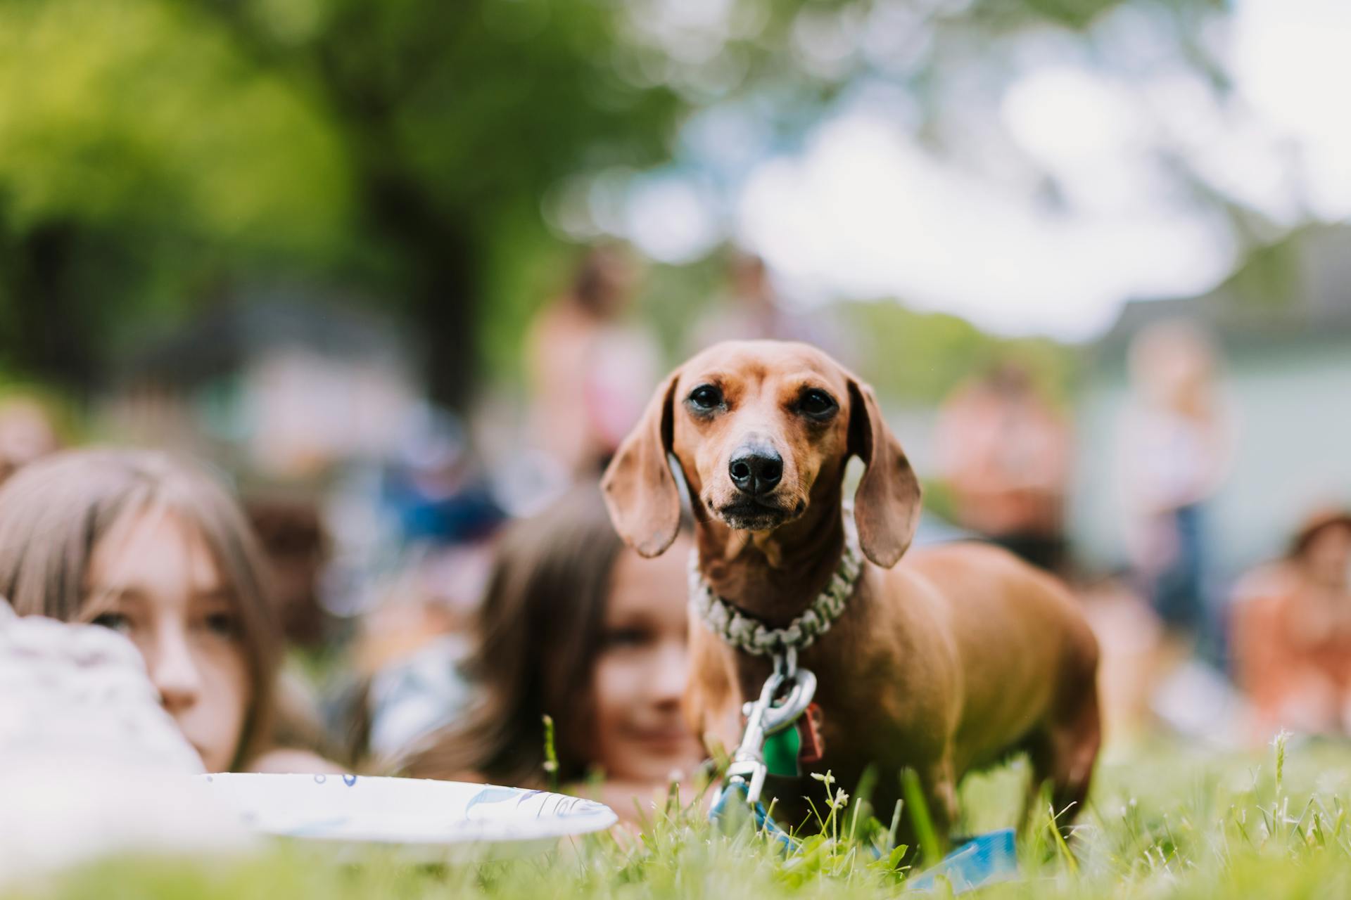
[[[962,776],[1016,750],[1029,753],[1034,787],[1051,780],[1056,810],[1081,801],[1097,753],[1097,649],[1071,603],[1048,576],[985,545],[866,568],[846,614],[800,657],[817,676],[824,710],[825,756],[812,770],[852,785],[870,764],[913,768],[940,834],[957,815]],[[759,692],[770,664],[697,622],[690,652],[692,723],[734,748],[740,704]],[[815,785],[774,787],[784,819],[801,820],[802,795]],[[894,777],[878,781],[880,812],[898,787]]]

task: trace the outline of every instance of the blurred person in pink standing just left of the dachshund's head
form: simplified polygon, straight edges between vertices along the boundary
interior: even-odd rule
[[[657,343],[626,322],[635,279],[626,252],[593,247],[567,291],[531,322],[531,426],[566,482],[601,471],[657,383]]]

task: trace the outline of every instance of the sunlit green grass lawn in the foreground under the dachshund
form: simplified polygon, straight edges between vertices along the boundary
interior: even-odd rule
[[[1069,845],[1047,815],[1023,842],[1023,880],[981,897],[1351,897],[1351,748],[1306,745],[1215,756],[1156,743],[1102,760]],[[963,785],[967,831],[1013,823],[1023,768]],[[825,816],[830,810],[821,811]],[[905,872],[850,841],[854,801],[805,853],[784,858],[754,834],[715,834],[692,811],[659,814],[642,838],[580,841],[538,857],[415,866],[372,853],[336,861],[301,845],[247,860],[108,861],[0,896],[120,900],[226,897],[894,897]],[[890,819],[890,816],[888,816]],[[880,827],[881,833],[885,828]],[[885,841],[882,835],[874,835]]]

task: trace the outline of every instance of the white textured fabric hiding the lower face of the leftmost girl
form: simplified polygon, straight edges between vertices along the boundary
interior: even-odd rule
[[[109,853],[242,846],[201,770],[126,637],[0,598],[0,884]]]

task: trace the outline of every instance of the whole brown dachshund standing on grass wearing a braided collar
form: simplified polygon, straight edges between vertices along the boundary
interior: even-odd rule
[[[681,366],[603,479],[616,530],[643,556],[662,553],[680,525],[669,455],[698,519],[704,582],[766,627],[788,625],[838,578],[844,464],[857,455],[866,466],[852,515],[871,565],[800,656],[824,716],[824,758],[811,770],[851,785],[875,764],[873,801],[886,815],[898,770],[915,769],[946,842],[962,776],[1027,752],[1032,792],[1050,781],[1056,811],[1070,810],[1062,823],[1078,812],[1100,741],[1097,642],[1059,582],[997,548],[925,548],[897,565],[920,486],[867,385],[807,344],[725,343]],[[690,629],[690,722],[736,746],[742,703],[770,661],[700,621]],[[796,823],[820,785],[770,789],[775,815]]]

